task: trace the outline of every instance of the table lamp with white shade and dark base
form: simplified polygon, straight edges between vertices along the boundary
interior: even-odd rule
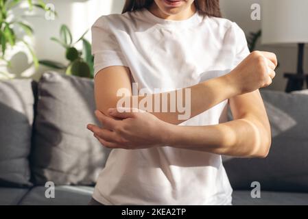
[[[297,72],[285,73],[286,92],[303,90],[305,75],[303,59],[308,42],[307,0],[262,0],[262,44],[298,44]]]

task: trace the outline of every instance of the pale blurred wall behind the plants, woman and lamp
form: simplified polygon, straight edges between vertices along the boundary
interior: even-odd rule
[[[261,21],[252,21],[250,9],[253,3],[261,3],[261,0],[221,0],[221,8],[225,18],[235,21],[246,35],[250,31],[261,29]],[[73,38],[77,40],[86,29],[91,27],[95,20],[104,14],[121,13],[125,0],[49,0],[47,3],[55,5],[58,17],[54,21],[47,21],[40,12],[34,12],[32,15],[25,17],[25,20],[34,27],[33,46],[39,59],[49,59],[66,63],[64,49],[55,42],[50,40],[51,36],[59,35],[60,25],[66,24],[70,27]],[[23,10],[16,9],[16,10]],[[86,35],[91,40],[90,32]],[[272,51],[279,57],[280,66],[277,70],[277,76],[274,83],[268,88],[270,90],[284,90],[286,79],[283,73],[295,73],[296,71],[296,45],[276,45],[263,46],[259,40],[257,50]],[[17,77],[33,77],[38,79],[46,67],[40,66],[35,69],[30,65],[31,56],[27,52],[23,53],[23,48],[14,49],[12,55],[12,69],[10,73]],[[308,54],[306,47],[306,54]],[[305,72],[308,72],[308,57],[305,57]],[[3,68],[0,65],[0,68]],[[1,69],[0,69],[1,70]]]

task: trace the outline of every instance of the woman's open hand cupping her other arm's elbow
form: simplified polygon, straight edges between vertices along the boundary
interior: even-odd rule
[[[87,126],[104,146],[112,149],[145,149],[166,143],[172,125],[156,116],[141,110],[120,113],[117,109],[109,109],[108,112],[111,117],[95,111],[104,128],[91,124]]]

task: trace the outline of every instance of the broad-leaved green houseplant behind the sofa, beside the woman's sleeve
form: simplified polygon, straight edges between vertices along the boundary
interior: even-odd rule
[[[86,31],[78,40],[73,42],[71,31],[67,25],[61,25],[60,38],[51,38],[54,42],[57,42],[65,49],[65,57],[69,61],[68,65],[54,62],[51,60],[40,60],[39,63],[50,68],[58,70],[65,70],[67,75],[75,75],[78,77],[93,78],[93,60],[94,57],[91,54],[91,44],[84,38],[88,31]],[[75,45],[78,42],[82,42],[82,49],[76,49]]]

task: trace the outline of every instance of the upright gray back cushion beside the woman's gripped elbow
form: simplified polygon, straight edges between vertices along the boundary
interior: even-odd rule
[[[88,123],[99,125],[94,111],[93,80],[45,73],[38,83],[38,105],[31,156],[34,182],[45,185],[92,185],[109,150]]]

